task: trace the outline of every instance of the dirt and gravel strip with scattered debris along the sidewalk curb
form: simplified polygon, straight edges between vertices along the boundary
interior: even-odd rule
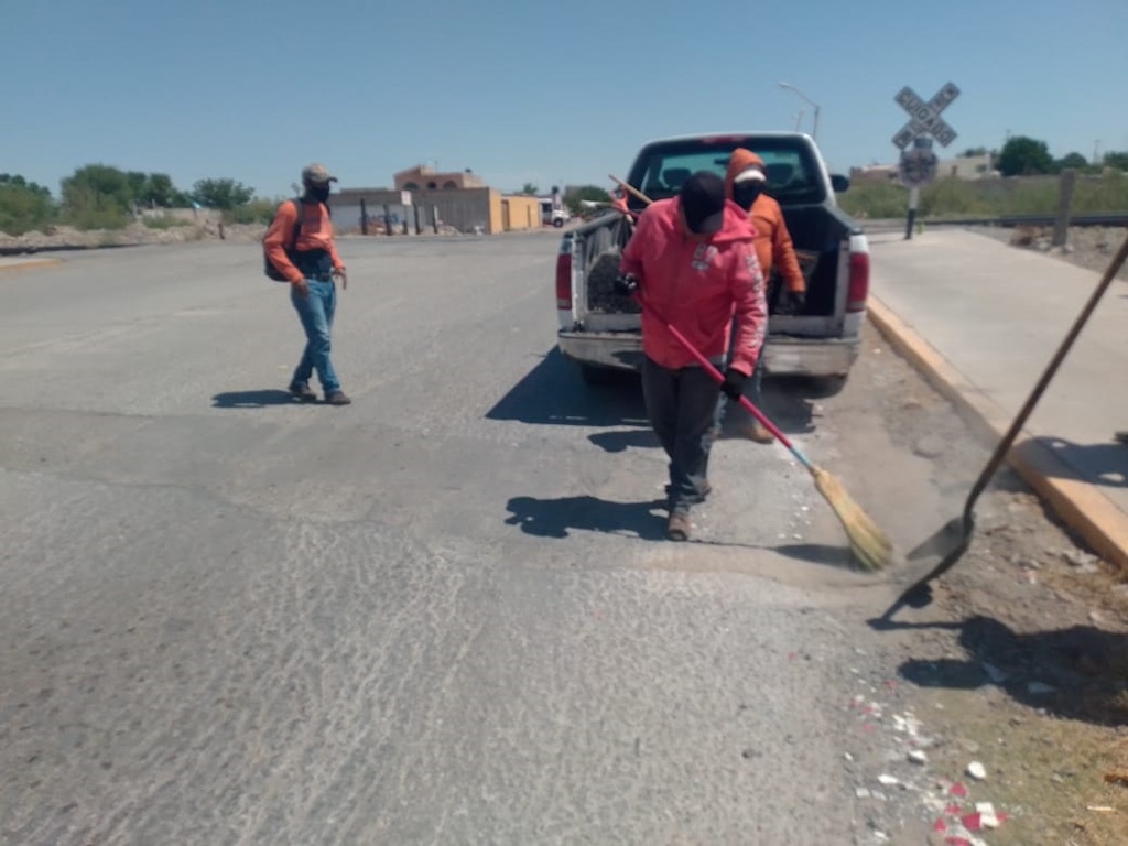
[[[977,442],[872,326],[864,340],[846,389],[818,404],[836,431],[872,421],[876,409],[884,432],[846,435],[836,467],[848,486],[908,502],[909,492],[888,478],[908,466],[904,458],[890,460],[885,477],[847,460],[852,451],[865,455],[866,439],[888,439],[892,451],[926,462],[948,509],[938,529],[960,513],[994,444]],[[787,402],[776,395],[776,412],[786,414]],[[979,500],[976,517],[970,549],[936,583],[933,603],[898,614],[858,647],[853,706],[865,731],[847,758],[858,770],[858,813],[873,835],[858,843],[1128,843],[1128,583],[1008,470]],[[915,530],[892,528],[902,537]],[[926,763],[907,761],[909,751]],[[986,770],[981,782],[966,773],[972,761]],[[880,786],[890,779],[900,786]],[[979,840],[945,839],[963,822],[978,825],[966,813],[963,822],[948,817],[948,832],[932,831],[945,804],[957,811],[945,802],[955,783],[970,794],[954,800],[961,811],[989,801],[1005,821],[971,835]]]

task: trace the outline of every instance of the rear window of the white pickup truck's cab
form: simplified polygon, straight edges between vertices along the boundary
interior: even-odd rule
[[[723,178],[729,157],[739,147],[764,159],[767,193],[781,205],[803,205],[826,200],[814,156],[810,147],[797,138],[696,138],[647,144],[638,155],[628,182],[651,200],[671,197],[697,170],[711,170]],[[635,200],[631,200],[629,204],[633,208],[642,205]]]

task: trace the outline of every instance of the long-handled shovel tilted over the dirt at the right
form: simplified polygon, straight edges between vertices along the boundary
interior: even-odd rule
[[[990,482],[995,473],[998,472],[999,466],[1003,464],[1003,459],[1006,458],[1007,452],[1011,451],[1011,447],[1014,446],[1014,441],[1019,437],[1019,432],[1021,432],[1022,428],[1026,424],[1026,420],[1029,420],[1031,413],[1034,411],[1034,406],[1038,404],[1038,400],[1041,399],[1042,394],[1046,391],[1046,387],[1057,373],[1058,368],[1065,360],[1065,356],[1073,346],[1074,341],[1077,340],[1077,335],[1081,334],[1085,323],[1087,323],[1090,316],[1096,309],[1096,303],[1100,302],[1101,297],[1103,297],[1104,292],[1109,290],[1109,285],[1112,284],[1112,280],[1116,279],[1116,275],[1120,271],[1120,267],[1123,265],[1126,258],[1128,258],[1128,238],[1125,238],[1125,243],[1120,245],[1120,249],[1117,250],[1117,254],[1112,257],[1112,262],[1109,264],[1108,270],[1104,271],[1104,275],[1098,283],[1096,290],[1094,290],[1093,294],[1089,298],[1089,302],[1085,303],[1085,307],[1081,310],[1081,314],[1074,321],[1073,328],[1069,329],[1069,334],[1066,335],[1065,341],[1061,342],[1061,346],[1059,346],[1058,351],[1054,354],[1052,360],[1046,368],[1046,372],[1042,373],[1041,379],[1038,380],[1038,385],[1034,386],[1033,391],[1026,398],[1026,403],[1022,406],[1022,411],[1019,412],[1019,416],[1014,418],[1011,428],[1007,430],[1006,434],[1003,435],[1003,440],[1001,440],[998,446],[995,448],[995,452],[992,455],[990,460],[987,461],[987,466],[984,467],[982,473],[979,474],[979,478],[976,479],[976,484],[972,486],[971,493],[968,495],[968,500],[963,505],[963,514],[950,520],[940,531],[908,554],[908,559],[910,562],[920,562],[915,566],[910,565],[906,574],[906,578],[909,579],[915,575],[915,581],[901,592],[898,600],[881,616],[882,620],[889,620],[893,614],[906,605],[913,608],[923,608],[928,605],[932,601],[932,588],[929,582],[934,579],[938,579],[955,566],[955,563],[963,556],[963,553],[967,552],[968,546],[971,544],[971,535],[976,529],[976,501],[987,488],[987,483]],[[937,558],[938,561],[936,561]],[[920,575],[920,573],[923,573],[923,575]]]

